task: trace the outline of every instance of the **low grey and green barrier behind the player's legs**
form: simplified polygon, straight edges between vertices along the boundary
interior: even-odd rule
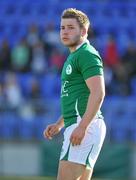
[[[30,144],[30,142],[28,144]],[[28,148],[23,149],[25,152],[24,154],[19,153],[24,145],[26,146],[26,144],[21,146],[21,144],[15,143],[14,146],[5,146],[11,154],[10,156],[7,153],[5,154],[6,156],[2,156],[3,154],[1,154],[1,161],[3,160],[2,157],[8,158],[8,166],[4,166],[3,161],[3,166],[2,164],[0,166],[0,180],[55,180],[57,176],[62,138],[57,136],[52,141],[46,140],[35,146],[30,146],[31,148],[29,148],[28,153],[29,156],[26,156],[26,152],[28,152],[26,149]],[[18,148],[19,146],[21,146],[21,148]],[[38,149],[38,156],[36,156],[37,153],[33,154],[33,147]],[[16,148],[18,151],[15,151]],[[4,150],[5,148],[3,147],[3,149],[1,149],[1,153],[4,152]],[[106,140],[94,168],[93,180],[131,180],[132,177],[134,177],[132,176],[132,172],[134,171],[132,168],[134,156],[132,156],[132,154],[134,152],[135,146],[130,143],[114,143]],[[13,158],[11,158],[11,156],[13,156]],[[20,158],[20,156],[23,157],[23,159]],[[36,167],[38,169],[35,169],[35,166],[31,166],[33,165],[32,159],[35,157],[38,157],[38,159],[37,161],[34,161],[33,164],[37,163]],[[15,158],[18,160],[14,164]],[[25,163],[23,162],[24,159]],[[31,163],[29,164],[29,162]],[[25,165],[27,168],[32,168],[27,171]],[[10,169],[10,171],[8,171],[8,167],[11,166],[14,168],[12,171]],[[25,170],[23,167],[25,167]],[[32,169],[35,169],[35,171],[31,171]]]

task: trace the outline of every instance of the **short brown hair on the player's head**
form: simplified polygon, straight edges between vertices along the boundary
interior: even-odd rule
[[[87,17],[87,15],[85,13],[83,13],[80,10],[77,10],[75,8],[68,8],[65,9],[62,13],[61,18],[74,18],[77,20],[79,26],[82,27],[86,27],[89,28],[90,26],[90,21],[89,18]]]

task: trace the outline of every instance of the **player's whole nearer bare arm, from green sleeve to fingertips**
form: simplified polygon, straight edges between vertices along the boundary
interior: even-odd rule
[[[104,96],[105,85],[102,75],[90,77],[86,80],[90,90],[87,108],[78,127],[72,132],[70,141],[72,145],[80,145],[85,136],[86,129],[100,109]]]

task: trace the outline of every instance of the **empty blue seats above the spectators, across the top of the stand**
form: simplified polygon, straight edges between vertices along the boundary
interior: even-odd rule
[[[77,3],[72,0],[59,3],[59,0],[48,0],[45,3],[40,0],[30,3],[23,0],[12,3],[8,0],[1,1],[0,6],[0,40],[7,37],[11,46],[27,36],[28,27],[32,23],[42,29],[41,34],[50,22],[59,30],[60,15],[68,7],[81,9],[88,14],[93,30],[97,32],[100,42],[103,42],[102,46],[105,45],[109,33],[115,35],[121,53],[130,40],[136,40],[136,3],[133,1],[121,3],[85,0]]]

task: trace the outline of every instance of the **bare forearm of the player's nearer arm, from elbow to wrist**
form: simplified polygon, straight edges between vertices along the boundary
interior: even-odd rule
[[[104,94],[98,94],[94,92],[88,98],[87,108],[82,117],[82,121],[80,122],[79,126],[83,128],[87,128],[92,119],[96,116],[98,110],[100,109],[102,102],[104,99]]]

